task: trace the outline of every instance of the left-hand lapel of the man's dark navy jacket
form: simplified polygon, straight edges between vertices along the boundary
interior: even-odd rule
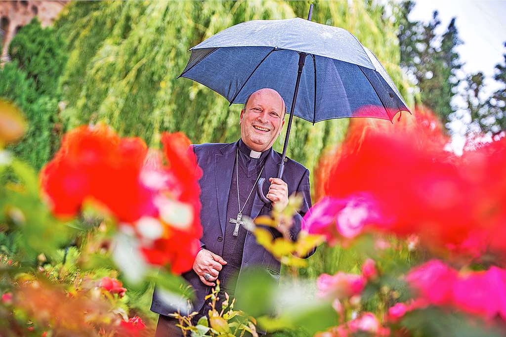
[[[227,224],[227,205],[234,172],[235,154],[237,143],[227,144],[222,147],[221,154],[215,154],[215,178],[216,196],[218,198],[218,218],[222,235],[225,234]]]

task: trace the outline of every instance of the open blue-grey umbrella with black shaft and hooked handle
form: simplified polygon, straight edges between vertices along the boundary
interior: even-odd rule
[[[278,178],[294,115],[314,124],[346,117],[392,120],[399,111],[409,112],[374,54],[349,31],[312,22],[312,9],[308,20],[247,21],[205,39],[190,49],[179,76],[216,91],[230,104],[244,104],[250,93],[262,88],[286,98],[291,108],[286,111],[290,117]],[[259,180],[257,191],[269,203],[264,182]]]

